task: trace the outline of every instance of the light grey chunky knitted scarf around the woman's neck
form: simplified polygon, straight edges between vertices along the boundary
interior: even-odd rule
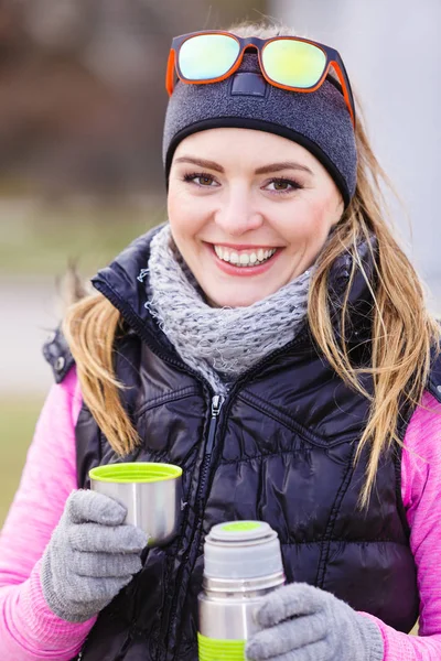
[[[267,354],[293,339],[306,314],[312,269],[247,307],[211,307],[169,225],[154,235],[148,266],[147,306],[183,361],[219,394]]]

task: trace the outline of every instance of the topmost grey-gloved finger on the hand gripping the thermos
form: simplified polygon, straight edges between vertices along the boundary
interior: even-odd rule
[[[266,629],[297,615],[313,615],[324,607],[326,599],[327,593],[306,583],[283,585],[266,597],[256,621]]]

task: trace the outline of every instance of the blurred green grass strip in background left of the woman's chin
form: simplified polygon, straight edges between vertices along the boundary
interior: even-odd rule
[[[160,199],[47,206],[0,198],[0,277],[62,275],[69,259],[84,275],[92,275],[165,218]]]

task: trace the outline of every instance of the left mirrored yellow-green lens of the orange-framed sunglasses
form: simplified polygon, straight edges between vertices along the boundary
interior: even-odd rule
[[[232,68],[240,47],[226,34],[198,34],[181,46],[179,66],[189,80],[209,80],[224,76]]]

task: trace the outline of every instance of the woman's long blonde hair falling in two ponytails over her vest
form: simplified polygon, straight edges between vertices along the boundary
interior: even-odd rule
[[[238,35],[261,37],[293,34],[283,25],[239,24],[232,28]],[[392,236],[386,221],[386,203],[381,183],[390,182],[369,145],[361,104],[357,109],[356,143],[358,150],[357,186],[351,205],[343,214],[318,262],[309,293],[308,317],[313,337],[335,372],[369,404],[369,418],[357,447],[356,460],[368,446],[369,460],[361,506],[368,503],[381,454],[397,436],[402,403],[420,402],[428,380],[431,350],[438,351],[440,330],[429,314],[419,278]],[[377,238],[377,256],[369,238]],[[367,241],[375,264],[376,288],[364,271],[357,246]],[[341,310],[341,328],[348,319],[348,292],[359,269],[374,297],[372,362],[354,368],[348,348],[340,343],[331,323],[329,277],[335,260],[352,256],[352,271]],[[404,277],[405,274],[405,277]],[[140,442],[125,411],[114,369],[115,338],[123,333],[119,312],[100,294],[77,301],[67,310],[63,330],[77,365],[84,400],[112,448],[121,456]],[[372,375],[373,392],[362,384],[363,375]]]

